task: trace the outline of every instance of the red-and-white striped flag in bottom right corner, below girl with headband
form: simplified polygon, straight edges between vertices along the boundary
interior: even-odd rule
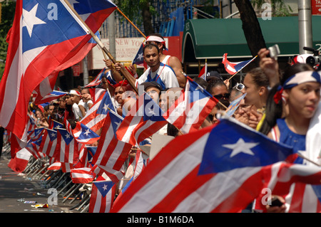
[[[266,188],[285,199],[287,213],[320,213],[321,169],[317,166],[280,162],[265,170]],[[266,194],[255,199],[253,208],[266,212]]]

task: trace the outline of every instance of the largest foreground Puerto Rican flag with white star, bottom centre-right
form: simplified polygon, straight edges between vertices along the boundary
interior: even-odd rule
[[[263,168],[292,156],[291,147],[222,119],[169,142],[111,212],[239,212],[265,187]]]

